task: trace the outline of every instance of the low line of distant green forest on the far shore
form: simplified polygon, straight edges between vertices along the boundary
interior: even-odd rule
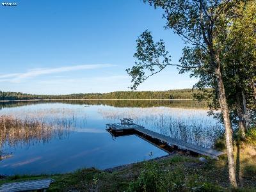
[[[168,90],[161,92],[110,92],[110,93],[76,93],[70,95],[34,95],[20,92],[1,92],[0,100],[29,99],[193,99],[196,90]]]

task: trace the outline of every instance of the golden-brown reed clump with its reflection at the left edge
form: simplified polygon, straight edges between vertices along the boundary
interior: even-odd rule
[[[72,131],[72,118],[55,118],[50,122],[35,118],[17,118],[12,115],[0,116],[0,157],[4,145],[33,145],[47,143],[52,138],[66,138]],[[0,158],[1,159],[1,158]]]

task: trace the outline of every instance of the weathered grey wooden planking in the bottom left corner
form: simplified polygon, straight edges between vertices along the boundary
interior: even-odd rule
[[[27,180],[22,182],[10,182],[0,186],[0,192],[33,191],[49,188],[52,179]]]

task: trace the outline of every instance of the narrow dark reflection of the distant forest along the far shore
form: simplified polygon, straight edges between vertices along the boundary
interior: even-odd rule
[[[118,108],[150,108],[156,106],[166,106],[172,108],[205,108],[204,102],[193,100],[34,100],[34,101],[10,101],[0,102],[0,109],[14,108],[17,106],[26,106],[42,103],[65,103],[79,105],[106,105]]]

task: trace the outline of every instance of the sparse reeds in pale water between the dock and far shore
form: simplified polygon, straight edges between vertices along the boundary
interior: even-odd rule
[[[222,124],[207,116],[207,111],[202,109],[100,109],[99,113],[113,122],[120,118],[133,118],[147,129],[208,148],[213,147],[214,141],[223,132]]]

